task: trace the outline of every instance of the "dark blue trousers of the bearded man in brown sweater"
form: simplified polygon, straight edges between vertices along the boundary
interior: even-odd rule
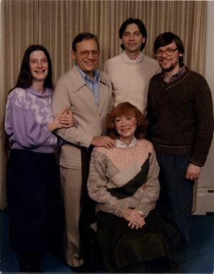
[[[194,181],[185,178],[190,156],[168,156],[156,153],[161,185],[158,210],[163,219],[175,225],[188,241],[191,227]]]

